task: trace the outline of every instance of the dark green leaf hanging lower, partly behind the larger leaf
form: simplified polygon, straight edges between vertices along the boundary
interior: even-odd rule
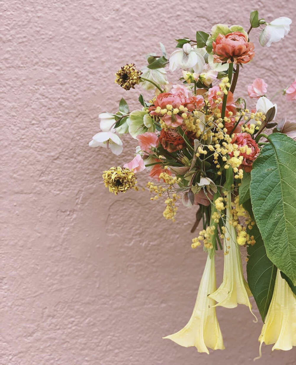
[[[253,235],[256,241],[254,246],[247,247],[249,255],[247,262],[248,284],[264,322],[273,294],[277,268],[266,255],[258,227],[255,225],[252,230],[248,230],[248,233]]]

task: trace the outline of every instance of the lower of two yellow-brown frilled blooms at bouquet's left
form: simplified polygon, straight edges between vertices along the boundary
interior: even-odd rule
[[[125,193],[132,189],[137,183],[135,174],[128,168],[120,166],[111,167],[103,172],[105,187],[109,188],[110,193],[117,195],[119,192]]]

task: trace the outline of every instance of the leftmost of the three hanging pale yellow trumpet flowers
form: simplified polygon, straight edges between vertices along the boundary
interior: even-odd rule
[[[214,300],[209,294],[216,289],[215,256],[208,255],[193,313],[186,326],[169,338],[184,347],[195,346],[198,352],[209,354],[210,349],[225,349],[222,333],[216,316]]]

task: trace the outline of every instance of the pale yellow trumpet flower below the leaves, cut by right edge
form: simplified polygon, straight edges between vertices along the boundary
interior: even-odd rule
[[[263,324],[260,341],[259,357],[262,343],[271,345],[273,350],[291,350],[296,346],[296,296],[287,281],[281,277],[277,269],[276,282],[268,312]]]

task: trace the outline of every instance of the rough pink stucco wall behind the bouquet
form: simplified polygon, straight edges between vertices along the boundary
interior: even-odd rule
[[[198,354],[164,335],[189,319],[205,264],[192,250],[194,210],[165,221],[149,193],[113,196],[101,173],[130,161],[90,149],[99,112],[131,108],[114,73],[144,55],[171,53],[174,38],[215,23],[249,27],[249,13],[292,18],[290,34],[241,70],[236,96],[255,77],[269,96],[296,76],[293,1],[2,0],[1,4],[1,365],[252,364],[261,323],[247,307],[218,308],[226,350]],[[265,4],[265,6],[264,6]],[[184,6],[185,5],[185,6]],[[277,84],[280,82],[280,84]],[[279,116],[295,115],[280,97]],[[254,107],[255,102],[249,101]],[[147,180],[145,172],[140,185]],[[218,284],[223,257],[217,257]],[[256,311],[256,310],[255,310]],[[263,347],[258,364],[295,364],[296,350]]]

